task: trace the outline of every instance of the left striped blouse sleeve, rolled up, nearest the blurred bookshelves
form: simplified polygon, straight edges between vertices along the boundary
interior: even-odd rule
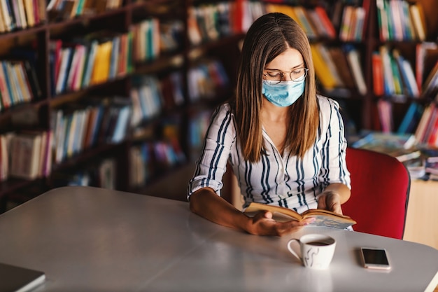
[[[196,162],[195,174],[188,186],[188,200],[196,190],[213,188],[218,195],[222,189],[229,151],[236,140],[234,118],[229,105],[220,106],[213,113],[206,132],[204,146]]]

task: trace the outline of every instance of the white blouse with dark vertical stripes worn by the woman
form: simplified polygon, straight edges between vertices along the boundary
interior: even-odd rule
[[[327,97],[318,96],[320,124],[313,148],[302,160],[283,155],[263,131],[266,153],[259,162],[243,160],[236,125],[229,104],[222,104],[211,117],[204,148],[197,161],[195,174],[188,186],[188,197],[199,188],[210,187],[220,195],[222,176],[227,162],[236,175],[243,207],[250,202],[261,202],[295,209],[301,213],[317,207],[317,198],[330,183],[350,186],[350,173],[346,168],[346,139],[339,104]]]

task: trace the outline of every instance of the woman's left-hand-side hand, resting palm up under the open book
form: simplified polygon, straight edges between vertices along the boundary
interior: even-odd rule
[[[271,211],[260,211],[254,217],[249,218],[247,232],[253,235],[283,236],[299,231],[306,225],[315,221],[315,218],[307,218],[303,221],[278,222],[272,218]]]

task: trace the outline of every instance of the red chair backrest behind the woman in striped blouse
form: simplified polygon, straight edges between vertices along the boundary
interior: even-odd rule
[[[351,197],[342,211],[358,222],[353,229],[402,239],[410,188],[406,167],[390,155],[356,148],[347,148],[346,162]]]

